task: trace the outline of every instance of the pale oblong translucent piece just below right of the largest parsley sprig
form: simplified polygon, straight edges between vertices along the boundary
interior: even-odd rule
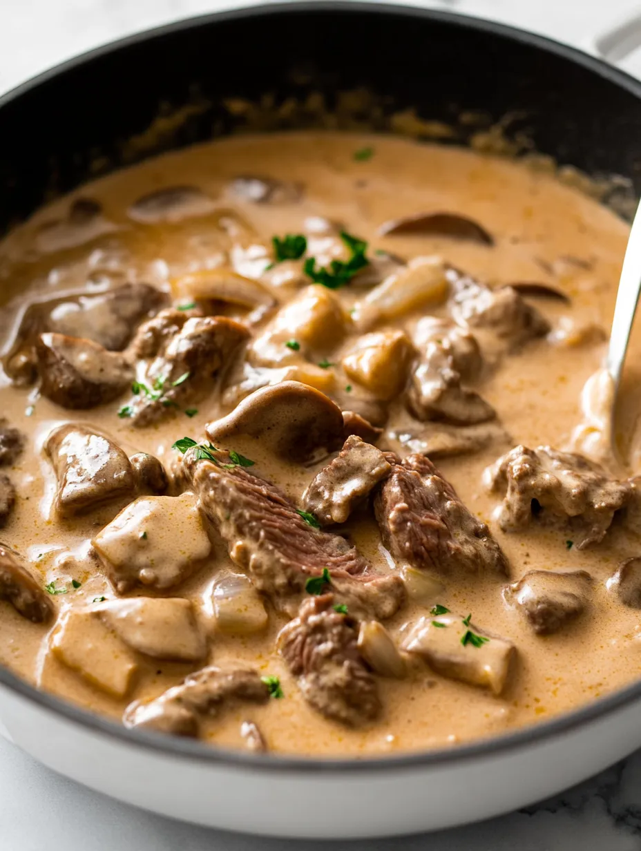
[[[448,294],[445,271],[440,257],[415,257],[357,301],[352,310],[354,325],[367,331],[382,320],[397,319],[429,303],[439,304]]]

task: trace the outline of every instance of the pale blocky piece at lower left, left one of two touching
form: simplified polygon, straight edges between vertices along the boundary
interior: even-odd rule
[[[69,609],[49,639],[54,656],[83,679],[122,699],[131,688],[138,662],[108,626],[90,609]]]

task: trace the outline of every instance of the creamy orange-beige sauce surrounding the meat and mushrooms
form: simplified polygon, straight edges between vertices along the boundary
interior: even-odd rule
[[[371,157],[354,157],[356,151],[368,147],[374,151]],[[234,178],[244,174],[300,184],[303,190],[299,198],[286,199],[285,203],[239,200],[230,186]],[[182,213],[173,209],[169,215],[158,215],[153,203],[146,203],[138,204],[128,215],[137,199],[169,186],[194,186],[202,197],[191,193]],[[472,513],[489,523],[509,560],[510,581],[535,568],[584,569],[592,574],[594,590],[587,614],[556,635],[536,636],[523,615],[503,602],[501,580],[446,583],[434,602],[454,612],[472,612],[478,625],[516,645],[518,659],[507,688],[501,696],[495,696],[483,688],[439,676],[426,665],[417,666],[405,679],[381,678],[381,721],[359,729],[345,728],[306,704],[279,658],[274,640],[286,620],[282,615],[269,610],[266,631],[253,637],[224,636],[216,631],[212,585],[217,575],[233,565],[226,546],[214,535],[213,551],[204,559],[203,567],[171,593],[197,603],[198,617],[210,639],[210,663],[246,663],[261,674],[278,676],[284,698],[270,700],[264,706],[242,705],[225,711],[208,722],[207,740],[243,746],[241,723],[251,720],[260,725],[272,751],[345,756],[417,751],[547,719],[638,677],[641,612],[624,607],[605,584],[623,558],[638,554],[638,541],[621,528],[613,528],[603,544],[577,551],[568,549],[567,535],[559,531],[531,527],[525,532],[504,534],[492,519],[496,497],[485,493],[482,486],[484,468],[508,448],[517,443],[564,448],[580,424],[581,389],[604,356],[604,333],[598,331],[609,328],[614,306],[627,240],[627,226],[621,220],[552,177],[518,163],[449,147],[329,133],[245,137],[197,146],[112,174],[83,187],[82,196],[98,201],[102,213],[99,220],[84,224],[80,232],[70,232],[65,225],[67,200],[39,212],[0,245],[0,280],[3,292],[8,294],[2,317],[7,345],[20,311],[32,300],[78,288],[99,292],[126,281],[146,281],[171,290],[177,303],[184,303],[190,291],[184,276],[220,266],[226,252],[235,258],[237,271],[259,277],[265,270],[272,237],[300,233],[309,217],[340,222],[369,243],[371,257],[376,249],[398,254],[404,260],[437,254],[491,285],[547,283],[562,289],[571,300],[570,305],[554,300],[532,302],[552,324],[552,334],[531,340],[520,351],[503,357],[475,384],[496,409],[498,421],[511,440],[499,440],[475,453],[437,463]],[[249,231],[238,235],[238,222],[232,221],[229,226],[226,217],[230,210],[249,223]],[[494,237],[495,245],[446,237],[378,234],[379,226],[387,220],[432,211],[459,213],[477,221]],[[313,223],[308,224],[309,239],[312,229]],[[321,257],[322,234],[314,238],[317,257]],[[354,328],[342,340],[329,322],[319,336],[306,341],[303,348],[311,352],[307,360],[304,351],[284,346],[291,334],[287,321],[282,320],[283,306],[311,283],[300,271],[298,277],[292,274],[288,281],[290,268],[288,263],[276,266],[262,278],[281,305],[283,336],[277,334],[276,339],[281,340],[277,351],[270,353],[268,346],[261,351],[266,352],[266,361],[272,359],[273,368],[283,369],[283,378],[309,380],[334,395],[344,409],[350,407],[350,394],[366,395],[340,366],[341,357],[352,351],[359,336],[388,327],[412,333],[421,317],[446,315],[444,306],[436,301],[414,305],[389,323],[363,332]],[[316,289],[319,298],[328,292],[320,286]],[[348,285],[333,291],[331,297],[348,316],[367,293],[367,288]],[[248,299],[251,297],[249,294]],[[273,311],[260,304],[231,306],[226,313],[241,321],[250,316],[255,336],[279,321],[273,319]],[[318,368],[321,361],[339,365]],[[626,390],[638,386],[639,370],[641,352],[636,345],[618,412],[621,443],[627,449],[632,445],[632,465],[637,463],[638,452],[632,437],[626,436],[634,433],[638,415],[634,396],[638,393],[632,395]],[[198,412],[192,418],[180,412],[160,426],[134,429],[126,417],[117,416],[128,398],[124,393],[122,401],[74,412],[37,397],[33,388],[12,386],[7,378],[0,387],[3,414],[26,435],[26,451],[9,470],[18,499],[0,539],[26,557],[43,586],[53,581],[55,588],[66,588],[66,593],[51,597],[59,617],[70,608],[94,605],[96,598],[112,600],[117,596],[88,553],[89,541],[111,522],[123,502],[104,505],[72,520],[57,520],[52,507],[54,473],[41,453],[49,432],[61,423],[82,420],[112,437],[127,454],[146,451],[169,465],[175,456],[170,447],[177,438],[191,435],[202,439],[205,424],[228,413],[238,401],[227,386],[223,402],[218,391],[212,393],[198,403]],[[398,400],[392,400],[390,406],[388,428],[402,431],[409,414]],[[384,441],[379,445],[386,448]],[[296,500],[327,462],[301,467],[275,460],[268,449],[261,450],[255,443],[235,443],[233,448],[246,452],[256,461],[254,470],[259,475],[270,478]],[[372,517],[354,515],[346,529],[381,573],[400,569],[382,547]],[[168,557],[177,545],[170,538],[167,535],[163,540]],[[80,587],[73,588],[72,580],[81,583]],[[423,614],[427,614],[426,608],[411,604],[386,626],[392,636],[402,637],[403,625]],[[51,628],[55,630],[55,625]],[[3,664],[38,688],[116,719],[134,698],[155,696],[202,666],[149,660],[137,654],[132,686],[125,698],[117,698],[62,664],[49,651],[50,641],[46,627],[31,624],[9,603],[0,603]]]

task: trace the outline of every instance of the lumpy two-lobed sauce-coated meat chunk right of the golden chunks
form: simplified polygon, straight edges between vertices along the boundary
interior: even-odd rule
[[[481,368],[481,352],[472,334],[432,317],[419,328],[416,343],[422,354],[409,382],[409,411],[417,420],[463,426],[494,419],[494,408],[461,384],[473,379]]]

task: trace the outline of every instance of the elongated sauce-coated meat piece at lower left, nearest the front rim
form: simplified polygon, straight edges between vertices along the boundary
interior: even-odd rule
[[[215,717],[230,703],[266,703],[269,687],[256,671],[203,668],[155,700],[135,700],[124,711],[126,727],[142,727],[177,736],[197,736],[200,720]]]

